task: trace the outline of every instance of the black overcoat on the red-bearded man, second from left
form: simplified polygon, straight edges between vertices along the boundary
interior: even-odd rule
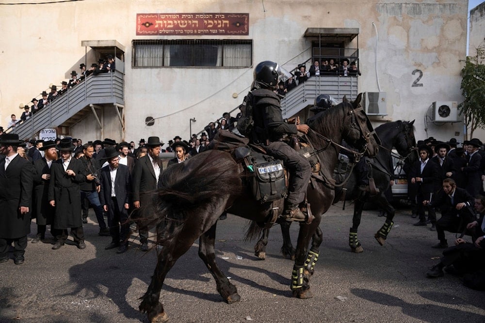
[[[43,180],[42,175],[49,174],[46,158],[41,158],[33,163],[33,204],[32,213],[37,225],[52,224],[54,208],[49,204],[49,180]]]

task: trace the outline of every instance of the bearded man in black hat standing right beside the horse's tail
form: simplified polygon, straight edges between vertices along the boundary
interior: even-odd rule
[[[153,193],[159,187],[160,175],[162,174],[162,161],[159,154],[163,142],[158,137],[149,137],[146,143],[148,154],[138,159],[133,169],[133,206],[137,218],[144,217],[149,212]],[[141,250],[148,250],[148,228],[139,225]]]

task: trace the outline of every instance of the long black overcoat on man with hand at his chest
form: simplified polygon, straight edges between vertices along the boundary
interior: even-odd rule
[[[49,201],[55,201],[54,229],[78,228],[81,220],[81,191],[79,184],[86,180],[81,161],[71,158],[67,169],[76,175],[68,176],[63,167],[63,160],[58,159],[50,166]]]

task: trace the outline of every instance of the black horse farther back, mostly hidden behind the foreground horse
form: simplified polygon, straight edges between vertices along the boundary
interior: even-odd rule
[[[357,238],[357,229],[360,225],[360,219],[362,217],[362,211],[364,204],[367,201],[372,201],[379,208],[387,213],[386,222],[374,235],[377,242],[383,246],[387,235],[393,225],[393,218],[395,210],[389,203],[385,196],[385,192],[390,185],[390,180],[394,175],[394,169],[392,167],[391,152],[392,148],[396,148],[401,159],[406,163],[414,163],[417,158],[415,152],[416,139],[414,137],[414,120],[412,122],[408,121],[396,121],[384,123],[375,128],[375,132],[378,137],[381,138],[382,143],[379,145],[379,153],[375,158],[370,160],[370,166],[372,167],[372,178],[374,179],[376,187],[379,189],[379,193],[375,196],[370,196],[369,192],[363,192],[358,189],[358,174],[356,170],[352,172],[348,181],[345,185],[347,187],[347,193],[345,195],[346,200],[355,200],[354,205],[354,217],[352,220],[352,228],[349,232],[349,246],[353,252],[364,251],[362,245]],[[339,195],[336,195],[339,197]],[[295,249],[291,244],[290,237],[290,224],[291,222],[279,221],[281,225],[281,232],[283,235],[283,246],[281,247],[281,252],[283,257],[294,259]],[[321,236],[322,232],[317,229],[315,232],[317,236]],[[265,259],[266,257],[266,244],[268,243],[269,229],[263,230],[262,236],[254,247],[255,256],[260,259]],[[319,240],[320,238],[316,238]]]

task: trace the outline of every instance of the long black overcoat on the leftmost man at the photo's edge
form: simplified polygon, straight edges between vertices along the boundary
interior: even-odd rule
[[[32,207],[32,163],[17,155],[5,170],[0,161],[0,238],[18,239],[30,233],[31,214],[20,214],[20,206]]]

